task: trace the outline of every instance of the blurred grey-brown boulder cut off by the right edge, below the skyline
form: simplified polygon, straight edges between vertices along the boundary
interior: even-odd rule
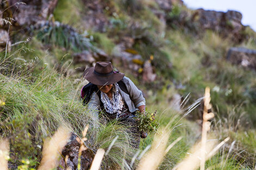
[[[230,48],[227,60],[232,64],[256,70],[256,50],[247,48]]]

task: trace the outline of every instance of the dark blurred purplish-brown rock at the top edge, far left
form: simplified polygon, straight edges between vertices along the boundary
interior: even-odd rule
[[[38,21],[46,20],[56,8],[58,0],[9,0],[16,26],[29,27]]]

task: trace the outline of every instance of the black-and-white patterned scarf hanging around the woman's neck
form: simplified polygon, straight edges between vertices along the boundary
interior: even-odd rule
[[[109,114],[115,114],[123,108],[124,103],[122,102],[122,97],[119,94],[118,87],[117,83],[113,84],[112,99],[109,99],[106,93],[101,92],[101,102]]]

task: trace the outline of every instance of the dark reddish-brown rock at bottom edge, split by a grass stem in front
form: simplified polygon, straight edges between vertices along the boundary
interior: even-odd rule
[[[62,151],[62,158],[60,159],[60,166],[58,170],[76,170],[78,165],[78,153],[81,147],[80,141],[75,134],[72,134],[69,142],[66,144]],[[82,151],[81,154],[81,170],[87,170],[92,165],[94,153],[90,149]]]

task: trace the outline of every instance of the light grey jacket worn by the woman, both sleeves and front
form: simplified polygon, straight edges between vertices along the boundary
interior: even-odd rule
[[[138,106],[145,105],[145,98],[142,95],[142,91],[139,90],[136,85],[127,77],[122,79],[126,89],[130,95],[122,91],[119,87],[119,93],[123,98],[124,102],[127,104],[130,112],[135,112],[138,110]],[[96,117],[99,117],[100,110],[100,98],[96,92],[92,93],[91,99],[88,102],[88,109],[94,113]]]

